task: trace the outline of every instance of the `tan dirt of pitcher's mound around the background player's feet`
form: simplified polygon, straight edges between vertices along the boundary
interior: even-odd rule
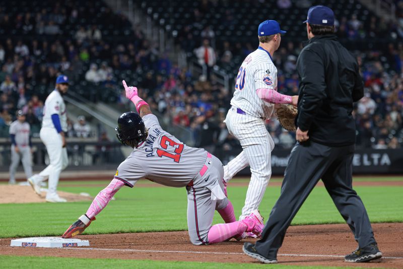
[[[0,203],[44,203],[46,193],[39,197],[31,186],[0,185]],[[58,195],[68,202],[91,201],[89,196],[58,191]]]

